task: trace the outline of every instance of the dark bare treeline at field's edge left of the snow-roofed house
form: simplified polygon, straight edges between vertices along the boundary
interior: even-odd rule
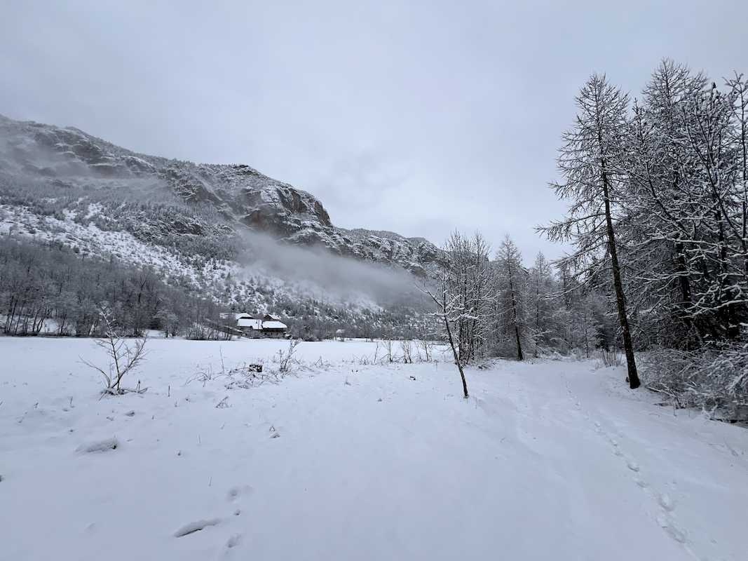
[[[106,308],[124,336],[148,329],[191,339],[227,337],[221,308],[183,278],[85,257],[61,243],[0,237],[0,329],[9,335],[101,334]]]

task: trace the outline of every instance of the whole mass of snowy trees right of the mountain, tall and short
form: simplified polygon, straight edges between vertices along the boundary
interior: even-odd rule
[[[568,212],[540,229],[574,251],[554,275],[454,234],[435,301],[456,358],[616,345],[633,388],[634,351],[659,349],[649,387],[748,414],[748,82],[663,61],[633,104],[593,75],[577,108],[553,184]]]

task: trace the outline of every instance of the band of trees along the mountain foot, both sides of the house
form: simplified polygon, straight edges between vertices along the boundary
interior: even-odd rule
[[[114,257],[102,260],[61,242],[40,244],[19,236],[0,237],[0,332],[90,337],[105,331],[102,308],[124,336],[147,329],[190,339],[227,339],[238,334],[221,312],[283,316],[292,337],[323,340],[342,329],[346,337],[414,339],[435,328],[408,298],[386,308],[330,304],[258,284],[263,307],[221,303],[218,287],[200,288],[188,278],[136,266]],[[411,298],[412,299],[412,298]]]

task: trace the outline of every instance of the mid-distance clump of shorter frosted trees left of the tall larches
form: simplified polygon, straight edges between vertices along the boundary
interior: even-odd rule
[[[556,269],[539,253],[533,266],[524,266],[509,235],[493,254],[480,233],[455,232],[443,250],[438,283],[424,290],[462,366],[494,356],[580,351],[589,357],[616,348],[610,293],[589,289],[565,264]]]

